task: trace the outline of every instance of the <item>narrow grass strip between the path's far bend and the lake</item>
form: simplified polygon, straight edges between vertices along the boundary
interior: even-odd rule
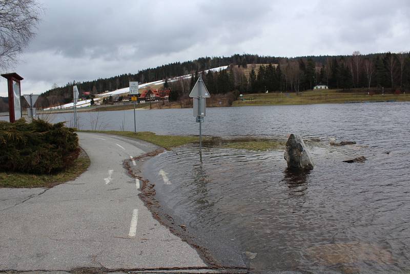
[[[94,132],[94,133],[106,133],[120,136],[126,136],[129,138],[139,139],[150,142],[154,145],[171,149],[173,147],[179,147],[187,144],[198,143],[199,139],[195,136],[178,136],[178,135],[157,135],[150,131],[140,131],[134,133],[132,131],[115,131],[115,130],[77,130],[78,132]]]

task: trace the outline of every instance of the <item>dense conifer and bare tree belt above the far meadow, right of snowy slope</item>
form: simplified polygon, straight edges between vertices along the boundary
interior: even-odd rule
[[[237,62],[229,69],[202,75],[212,94],[238,91],[254,93],[266,91],[303,91],[324,84],[333,89],[367,90],[384,88],[386,91],[410,89],[409,53],[379,53],[361,55],[356,51],[350,56],[306,56],[298,58],[274,58],[277,63],[245,64]],[[245,72],[251,67],[249,75]],[[198,79],[198,71],[192,74],[192,89]],[[187,96],[183,83],[172,83],[171,100]],[[189,93],[189,92],[188,92]]]

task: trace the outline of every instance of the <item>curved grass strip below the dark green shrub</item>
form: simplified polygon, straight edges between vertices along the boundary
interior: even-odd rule
[[[86,153],[80,153],[74,165],[55,174],[28,174],[19,172],[0,172],[0,187],[31,188],[53,187],[72,181],[90,166],[90,158]]]

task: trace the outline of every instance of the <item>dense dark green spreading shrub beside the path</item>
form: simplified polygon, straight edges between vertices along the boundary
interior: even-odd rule
[[[0,171],[54,173],[72,165],[78,154],[77,134],[64,123],[0,121]]]

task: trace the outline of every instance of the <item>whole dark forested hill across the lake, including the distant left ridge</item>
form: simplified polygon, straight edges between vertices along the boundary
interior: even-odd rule
[[[253,66],[253,64],[266,65],[260,67]],[[279,64],[279,66],[273,66],[275,69],[272,70],[272,66],[269,67],[269,64]],[[225,73],[212,73],[212,77],[208,76],[209,81],[215,82],[216,90],[214,92],[216,93],[226,93],[235,89],[243,93],[261,92],[264,88],[269,88],[270,91],[299,91],[311,89],[320,82],[331,88],[377,86],[408,88],[410,86],[408,53],[387,52],[361,55],[359,52],[355,52],[352,55],[293,58],[235,54],[229,57],[200,57],[193,61],[147,68],[135,74],[128,73],[93,81],[67,83],[64,87],[54,87],[43,93],[39,98],[38,107],[71,102],[73,85],[77,85],[80,94],[84,91],[96,94],[128,87],[129,81],[148,83],[191,73],[195,75],[198,71],[226,65],[230,65],[227,75],[224,75]],[[248,74],[245,73],[246,76],[243,79],[241,76],[247,67]],[[250,73],[249,67],[255,67],[255,69]],[[196,81],[196,77],[193,77],[193,80]],[[218,83],[224,88],[218,88],[220,86]],[[171,85],[177,93],[175,97],[185,95],[186,91],[183,90],[183,87],[182,90],[178,90],[181,89],[181,86],[183,84]],[[192,83],[187,83],[185,89],[190,86]]]

